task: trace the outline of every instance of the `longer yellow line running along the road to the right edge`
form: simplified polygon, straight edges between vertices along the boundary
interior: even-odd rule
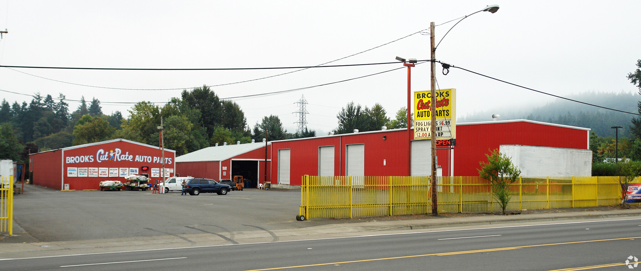
[[[543,246],[547,246],[547,245],[567,245],[567,244],[574,244],[574,243],[590,243],[590,242],[599,242],[599,241],[614,241],[614,240],[637,239],[637,238],[641,238],[641,237],[626,237],[626,238],[613,238],[613,239],[602,239],[602,240],[574,241],[574,242],[550,243],[550,244],[542,244],[542,245],[523,245],[523,246],[519,246],[519,247],[501,247],[501,248],[497,248],[497,249],[465,250],[465,251],[456,251],[456,252],[442,252],[442,253],[420,254],[420,255],[410,255],[410,256],[398,256],[398,257],[378,258],[378,259],[359,259],[359,260],[354,260],[354,261],[337,261],[337,262],[334,262],[334,263],[315,263],[313,265],[295,265],[295,266],[291,266],[291,267],[272,267],[272,268],[252,269],[252,270],[245,270],[245,271],[264,271],[264,270],[279,270],[279,269],[299,268],[299,267],[318,267],[320,265],[338,265],[338,264],[341,264],[341,263],[362,263],[363,261],[382,261],[382,260],[385,260],[385,259],[404,259],[404,258],[416,258],[416,257],[425,257],[425,256],[448,256],[448,255],[476,253],[476,252],[522,249],[522,248],[525,248],[525,247],[543,247]],[[623,264],[625,265],[625,263],[623,263]],[[620,265],[620,264],[617,263],[615,265]],[[583,268],[583,267],[579,267],[579,268]],[[590,268],[586,268],[586,269],[590,269]],[[560,270],[563,270],[563,269],[560,269]],[[568,269],[568,270],[582,270],[582,269]]]

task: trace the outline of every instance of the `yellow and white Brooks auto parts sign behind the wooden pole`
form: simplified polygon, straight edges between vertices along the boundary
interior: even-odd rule
[[[456,138],[456,89],[435,91],[436,139]],[[431,91],[414,92],[414,139],[431,137]]]

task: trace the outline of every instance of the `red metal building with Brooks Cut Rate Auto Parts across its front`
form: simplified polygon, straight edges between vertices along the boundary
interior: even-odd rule
[[[165,177],[174,175],[176,152],[164,150]],[[126,139],[112,139],[33,153],[29,157],[33,184],[71,190],[98,189],[103,180],[120,180],[132,174],[160,178],[162,152]]]

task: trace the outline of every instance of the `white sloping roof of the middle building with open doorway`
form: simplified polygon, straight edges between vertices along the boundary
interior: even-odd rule
[[[271,142],[268,144],[271,144]],[[180,155],[176,157],[176,162],[224,161],[262,146],[265,146],[264,142],[207,147],[196,152]]]

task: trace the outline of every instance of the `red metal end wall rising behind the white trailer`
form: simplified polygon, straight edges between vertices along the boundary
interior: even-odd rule
[[[487,161],[485,153],[503,144],[588,148],[587,130],[529,123],[487,123],[458,125],[454,148],[454,176],[478,176],[479,162]]]

